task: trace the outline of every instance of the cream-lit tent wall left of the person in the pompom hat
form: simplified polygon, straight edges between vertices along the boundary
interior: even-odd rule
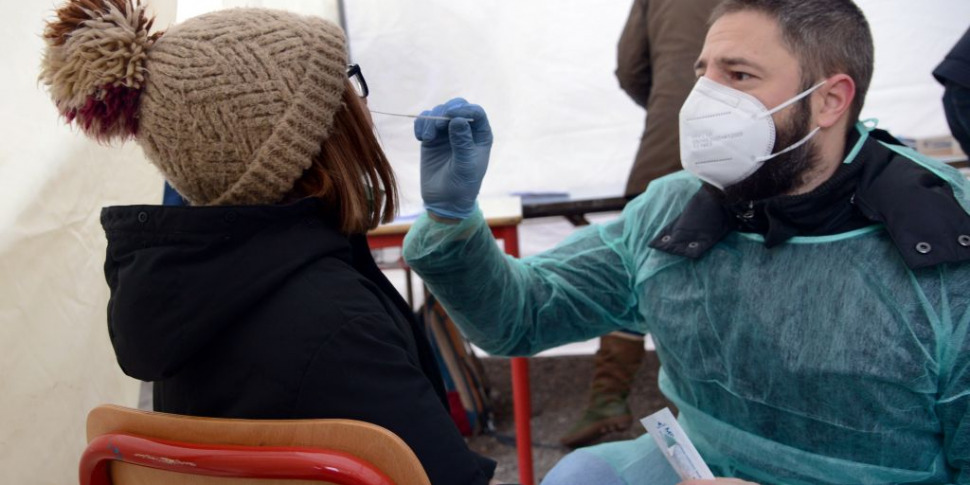
[[[158,25],[175,0],[155,1]],[[134,144],[99,146],[37,82],[52,2],[7,2],[0,31],[0,482],[76,483],[85,417],[134,406],[105,325],[102,206],[156,203],[162,178]]]

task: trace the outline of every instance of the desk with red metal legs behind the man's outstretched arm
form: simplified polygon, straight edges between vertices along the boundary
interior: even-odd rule
[[[522,222],[522,201],[518,197],[485,199],[478,203],[485,221],[496,239],[502,240],[505,252],[519,257],[519,223]],[[367,234],[370,248],[400,247],[411,229],[411,221],[385,224]],[[532,396],[529,392],[529,361],[525,357],[512,358],[512,403],[515,416],[515,448],[519,456],[519,482],[535,485],[532,467]]]

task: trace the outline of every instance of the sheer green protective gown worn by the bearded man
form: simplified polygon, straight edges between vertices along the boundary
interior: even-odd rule
[[[908,156],[968,207],[956,170]],[[699,187],[659,179],[617,220],[521,260],[480,212],[423,216],[405,258],[493,354],[652,334],[661,390],[715,474],[970,484],[970,264],[910,270],[881,226],[772,249],[734,232],[699,259],[650,248]]]

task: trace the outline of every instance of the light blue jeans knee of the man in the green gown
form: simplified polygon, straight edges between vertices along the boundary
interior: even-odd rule
[[[580,448],[559,460],[542,485],[676,485],[680,477],[650,435]]]

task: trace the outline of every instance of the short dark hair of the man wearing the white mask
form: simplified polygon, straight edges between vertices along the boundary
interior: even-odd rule
[[[859,120],[872,81],[872,32],[852,0],[725,0],[711,23],[730,13],[762,12],[778,22],[786,47],[799,61],[802,88],[843,73],[855,81],[850,126]]]

